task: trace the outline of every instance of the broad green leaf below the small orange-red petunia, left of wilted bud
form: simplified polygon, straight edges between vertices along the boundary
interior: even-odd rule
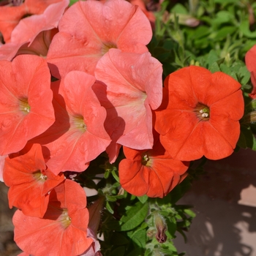
[[[132,230],[140,225],[146,219],[148,214],[148,203],[135,203],[134,206],[129,208],[126,215],[121,217],[120,221],[124,224],[121,225],[121,231]]]

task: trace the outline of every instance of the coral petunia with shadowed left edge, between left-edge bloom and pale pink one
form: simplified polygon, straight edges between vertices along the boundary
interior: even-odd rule
[[[86,170],[110,144],[104,128],[106,110],[91,89],[94,82],[92,75],[72,71],[52,85],[56,121],[31,142],[43,145],[47,165],[55,174]]]

